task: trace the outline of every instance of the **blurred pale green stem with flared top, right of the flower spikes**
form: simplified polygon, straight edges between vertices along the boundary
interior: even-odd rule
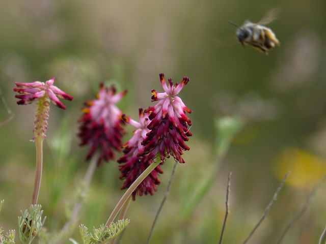
[[[215,130],[218,134],[215,145],[215,160],[199,180],[199,183],[196,184],[198,187],[192,192],[192,195],[185,196],[183,199],[180,209],[180,218],[182,221],[186,221],[192,216],[198,204],[212,187],[216,179],[216,173],[225,158],[232,139],[243,126],[244,121],[240,117],[222,117],[215,120]]]

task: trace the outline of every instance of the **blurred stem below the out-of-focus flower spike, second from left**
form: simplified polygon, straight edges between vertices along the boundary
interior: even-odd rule
[[[84,189],[83,192],[80,194],[82,196],[82,198],[80,198],[79,201],[75,202],[73,208],[72,208],[72,214],[71,214],[71,218],[70,220],[62,227],[61,232],[66,231],[73,223],[76,222],[77,218],[78,218],[78,214],[80,209],[82,208],[82,204],[83,204],[83,199],[85,196],[85,193],[90,185],[90,182],[93,178],[94,175],[94,171],[96,168],[96,164],[97,164],[97,157],[92,158],[88,169],[86,171],[85,177],[84,177]]]

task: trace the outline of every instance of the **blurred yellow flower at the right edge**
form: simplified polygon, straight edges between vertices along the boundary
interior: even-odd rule
[[[286,148],[277,157],[274,172],[282,180],[289,170],[286,184],[311,188],[326,176],[326,160],[299,148]]]

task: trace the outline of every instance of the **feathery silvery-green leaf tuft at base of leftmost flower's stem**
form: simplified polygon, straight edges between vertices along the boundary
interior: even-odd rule
[[[44,224],[43,210],[41,210],[41,205],[31,205],[29,211],[25,210],[21,214],[22,216],[18,217],[19,238],[22,243],[30,244]]]

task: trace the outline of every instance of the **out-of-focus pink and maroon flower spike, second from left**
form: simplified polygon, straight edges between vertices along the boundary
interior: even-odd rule
[[[121,150],[122,136],[125,133],[121,116],[122,112],[116,106],[126,94],[126,90],[116,94],[114,85],[104,87],[100,83],[96,99],[85,103],[78,136],[79,145],[89,145],[90,149],[86,161],[90,160],[98,151],[97,166],[115,158],[114,151]]]

